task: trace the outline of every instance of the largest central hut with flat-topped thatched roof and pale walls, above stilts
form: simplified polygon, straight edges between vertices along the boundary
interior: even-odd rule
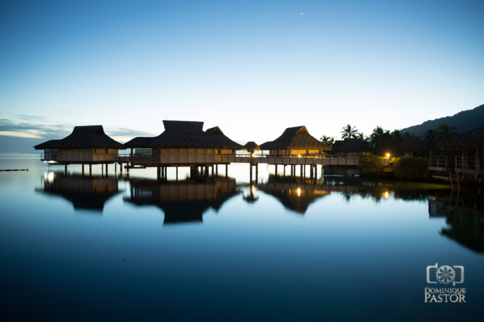
[[[163,125],[165,131],[159,136],[133,138],[125,143],[126,148],[135,149],[132,160],[135,164],[206,166],[216,163],[216,155],[222,153],[222,149],[238,148],[220,143],[214,136],[205,133],[203,122],[163,121]]]

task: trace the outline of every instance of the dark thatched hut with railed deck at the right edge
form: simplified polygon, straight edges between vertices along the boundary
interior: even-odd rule
[[[430,155],[428,169],[439,174],[434,177],[445,179],[449,171],[455,171],[461,177],[482,180],[479,175],[484,175],[484,127],[459,134],[442,145],[445,150],[432,151]]]

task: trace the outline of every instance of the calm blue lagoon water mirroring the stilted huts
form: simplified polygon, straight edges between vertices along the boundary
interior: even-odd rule
[[[157,182],[154,169],[102,177],[1,155],[3,319],[51,321],[441,321],[477,319],[484,212],[446,186],[229,177]],[[220,169],[219,169],[220,170]],[[340,170],[345,173],[345,169]],[[299,171],[298,171],[299,173]],[[351,174],[351,173],[349,173]],[[465,282],[428,284],[429,265]],[[456,269],[457,271],[457,269]],[[435,271],[432,275],[435,280]],[[456,278],[457,280],[457,278]],[[424,288],[465,303],[424,303]]]

